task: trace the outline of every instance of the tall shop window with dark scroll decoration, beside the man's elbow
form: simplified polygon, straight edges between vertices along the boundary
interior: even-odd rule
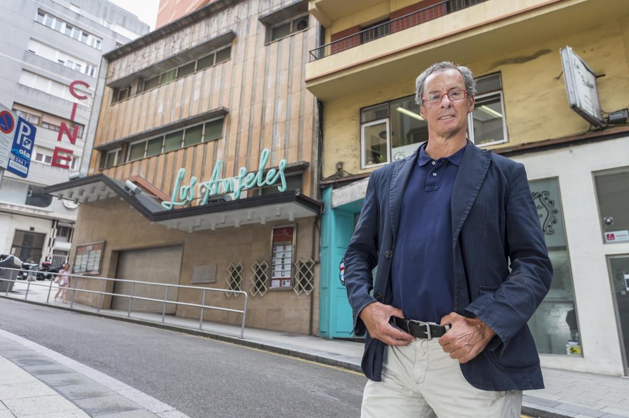
[[[550,290],[528,326],[539,353],[581,355],[559,184],[557,179],[529,184],[554,272]]]

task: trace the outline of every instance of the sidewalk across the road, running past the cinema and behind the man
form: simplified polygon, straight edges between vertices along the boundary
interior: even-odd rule
[[[38,283],[48,285],[48,282]],[[13,293],[9,293],[8,296],[3,293],[0,294],[0,297],[24,300],[26,285],[27,283],[16,283]],[[55,285],[53,285],[53,289],[55,289]],[[47,295],[47,287],[33,287],[31,283],[28,293],[29,302],[45,304]],[[50,300],[52,300],[53,295],[54,292],[52,292]],[[71,297],[71,292],[69,297]],[[54,302],[48,305],[70,309],[70,302],[67,304]],[[198,319],[166,316],[165,324],[162,324],[160,314],[131,312],[131,317],[127,318],[127,312],[123,311],[101,309],[101,312],[98,313],[96,308],[80,304],[74,304],[72,309],[150,326],[176,329],[184,333],[199,334],[207,338],[220,339],[221,341],[360,371],[362,343],[257,328],[245,328],[245,338],[240,339],[240,326],[236,325],[203,321],[203,331],[200,331]],[[1,351],[0,355],[3,355]],[[628,378],[548,368],[543,369],[543,375],[545,389],[529,390],[524,393],[524,414],[542,418],[629,418]],[[2,400],[1,397],[0,400]],[[4,418],[1,412],[0,418]],[[143,417],[144,415],[138,416]]]

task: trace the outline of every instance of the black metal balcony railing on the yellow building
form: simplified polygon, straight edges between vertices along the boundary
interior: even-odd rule
[[[399,32],[412,26],[421,25],[429,20],[440,18],[446,14],[474,6],[487,0],[445,0],[425,8],[413,11],[404,16],[391,19],[380,25],[370,26],[362,31],[345,36],[310,51],[310,61],[319,60],[329,55],[357,47],[364,43],[382,38],[391,33]]]

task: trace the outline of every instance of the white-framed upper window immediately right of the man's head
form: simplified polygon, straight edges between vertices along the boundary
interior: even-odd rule
[[[470,141],[476,145],[506,142],[507,127],[500,74],[476,80],[474,101],[474,110],[467,116]]]

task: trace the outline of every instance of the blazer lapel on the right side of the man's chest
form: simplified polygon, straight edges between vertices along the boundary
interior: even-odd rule
[[[472,209],[482,181],[487,175],[491,151],[481,150],[476,145],[467,141],[467,149],[463,154],[457,177],[452,189],[452,246],[457,243],[459,233],[465,222],[467,214]]]

